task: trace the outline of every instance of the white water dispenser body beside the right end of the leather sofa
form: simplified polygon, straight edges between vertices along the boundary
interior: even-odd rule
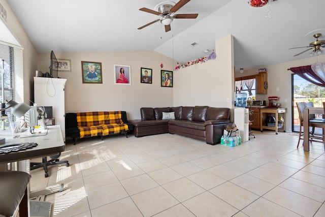
[[[234,109],[234,121],[237,129],[240,132],[242,142],[249,140],[249,123],[248,123],[248,109],[247,108],[235,108]]]

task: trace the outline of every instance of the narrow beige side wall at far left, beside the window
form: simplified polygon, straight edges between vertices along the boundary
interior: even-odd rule
[[[37,70],[38,55],[31,44],[25,30],[21,26],[18,18],[11,9],[7,0],[0,0],[0,4],[7,11],[7,24],[11,28],[12,32],[23,46],[23,85],[24,85],[24,99],[16,99],[17,101],[24,101],[24,103],[30,104],[29,100],[34,99],[34,76],[35,70]],[[0,33],[1,34],[1,33]]]

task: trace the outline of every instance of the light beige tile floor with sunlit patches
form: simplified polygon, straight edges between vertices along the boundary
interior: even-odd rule
[[[30,189],[66,185],[46,196],[51,216],[325,216],[323,145],[254,133],[236,147],[171,134],[67,140],[70,167],[31,171]]]

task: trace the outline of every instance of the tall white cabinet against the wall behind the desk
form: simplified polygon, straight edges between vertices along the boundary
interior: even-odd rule
[[[67,79],[34,77],[34,103],[52,106],[55,125],[60,125],[64,141],[66,140],[64,115],[64,86]]]

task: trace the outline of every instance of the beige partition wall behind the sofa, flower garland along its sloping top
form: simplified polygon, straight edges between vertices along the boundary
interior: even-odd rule
[[[216,40],[217,58],[174,72],[174,106],[233,107],[233,36]]]

